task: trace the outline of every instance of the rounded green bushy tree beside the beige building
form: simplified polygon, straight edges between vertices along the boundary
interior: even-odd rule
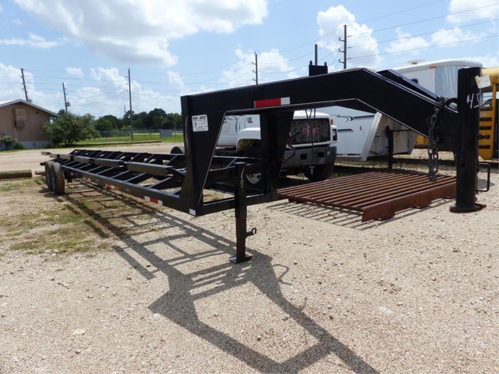
[[[72,113],[59,112],[52,122],[45,122],[42,131],[52,139],[56,146],[69,146],[79,141],[99,136],[94,127],[94,117],[90,114],[77,116]]]

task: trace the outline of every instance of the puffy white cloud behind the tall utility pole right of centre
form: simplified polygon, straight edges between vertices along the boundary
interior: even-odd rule
[[[338,38],[343,38],[343,25],[346,24],[347,34],[351,35],[348,37],[348,46],[352,47],[348,49],[348,56],[350,58],[370,56],[349,61],[349,66],[377,66],[380,63],[380,57],[377,56],[379,53],[378,44],[372,36],[373,29],[364,23],[357,23],[355,16],[343,5],[331,6],[326,11],[319,11],[317,13],[317,24],[319,25],[319,35],[323,37],[318,42],[319,46],[331,52],[336,52],[338,47],[343,47]],[[333,54],[332,56],[334,57],[332,64],[335,64],[338,60],[336,58],[338,54]],[[331,56],[327,57],[327,59],[331,59]]]

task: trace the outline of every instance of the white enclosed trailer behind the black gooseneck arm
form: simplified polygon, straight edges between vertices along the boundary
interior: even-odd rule
[[[458,70],[470,66],[482,64],[464,60],[439,60],[413,62],[392,70],[439,96],[456,97]],[[339,106],[328,108],[327,112],[338,131],[337,159],[365,161],[368,157],[386,155],[387,126],[396,131],[393,134],[394,154],[410,154],[416,144],[417,133],[381,113],[360,112]]]

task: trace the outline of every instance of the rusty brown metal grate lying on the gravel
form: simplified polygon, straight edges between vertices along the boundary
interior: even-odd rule
[[[456,196],[456,178],[424,174],[370,172],[323,182],[281,188],[280,198],[313,202],[362,212],[362,222],[387,219],[411,207],[428,206],[438,198]]]

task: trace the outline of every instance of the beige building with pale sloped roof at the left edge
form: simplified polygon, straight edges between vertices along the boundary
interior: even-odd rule
[[[21,99],[0,101],[0,135],[8,134],[26,148],[48,147],[50,138],[41,132],[41,126],[55,116]]]

